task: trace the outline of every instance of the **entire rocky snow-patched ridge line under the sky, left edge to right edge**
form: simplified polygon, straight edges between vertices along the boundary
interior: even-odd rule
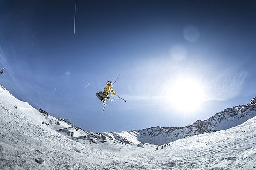
[[[9,93],[5,88],[1,91],[3,94]],[[14,96],[11,99],[18,100]],[[21,102],[21,101],[20,101]],[[81,143],[97,144],[101,142],[120,143],[124,145],[141,145],[142,143],[162,145],[175,140],[185,138],[187,136],[193,136],[198,134],[204,134],[209,132],[216,132],[218,130],[225,130],[236,125],[240,125],[246,120],[256,116],[256,97],[254,97],[247,105],[239,105],[233,108],[227,108],[224,111],[216,113],[214,116],[207,120],[197,120],[192,125],[185,127],[151,127],[142,130],[131,130],[123,132],[104,132],[95,133],[76,127],[66,119],[55,118],[46,111],[39,109],[39,111],[32,108],[27,102],[26,108],[20,108],[17,105],[16,109],[26,111],[33,110],[35,114],[41,116],[41,123],[47,125],[52,130],[73,139],[74,141]],[[38,116],[39,116],[38,115]]]

